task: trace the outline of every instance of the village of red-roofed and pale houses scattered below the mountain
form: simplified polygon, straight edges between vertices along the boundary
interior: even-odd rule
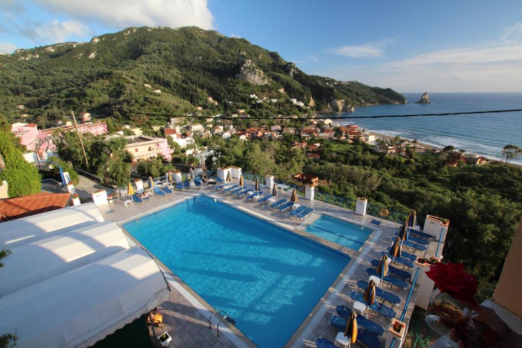
[[[253,94],[252,98],[257,96]],[[209,97],[209,101],[211,97]],[[268,100],[267,102],[271,102]],[[296,101],[298,102],[298,101]],[[19,105],[23,108],[23,105]],[[270,140],[282,139],[284,135],[298,136],[301,141],[294,141],[291,150],[305,150],[306,157],[310,159],[320,159],[317,153],[321,147],[321,140],[336,140],[341,142],[353,143],[365,142],[374,147],[374,150],[387,156],[401,156],[411,158],[414,154],[424,153],[444,153],[446,155],[446,166],[456,167],[461,164],[481,165],[488,163],[488,159],[477,154],[469,154],[450,151],[453,147],[445,149],[435,149],[423,146],[417,141],[400,139],[399,137],[379,137],[371,134],[365,129],[360,129],[357,125],[341,125],[334,123],[332,119],[317,118],[310,119],[310,122],[302,127],[292,127],[286,125],[292,119],[277,119],[279,124],[261,125],[259,127],[250,127],[246,129],[237,129],[231,124],[230,119],[218,118],[222,115],[212,117],[202,117],[198,114],[186,114],[186,118],[172,117],[167,124],[152,126],[151,129],[123,125],[121,130],[116,131],[113,135],[108,135],[109,130],[105,122],[96,121],[90,113],[80,113],[78,131],[80,133],[90,133],[94,136],[107,134],[107,138],[124,137],[127,140],[127,151],[132,154],[135,162],[139,160],[147,160],[158,155],[162,155],[165,160],[171,161],[174,149],[173,143],[177,144],[183,153],[187,156],[195,155],[201,150],[198,149],[196,138],[207,139],[221,137],[228,139],[237,136],[242,140],[263,139]],[[198,117],[201,123],[193,123],[192,117]],[[236,113],[230,115],[232,118],[249,118],[245,110],[237,110]],[[318,115],[317,115],[318,116]],[[11,124],[11,132],[20,138],[20,143],[26,146],[28,152],[24,157],[28,162],[38,162],[39,160],[52,157],[56,153],[56,133],[57,131],[75,131],[76,127],[72,122],[61,122],[56,127],[47,129],[38,129],[34,123],[14,123]],[[145,133],[161,134],[162,137],[149,136]],[[53,137],[54,136],[54,137]],[[314,141],[317,140],[317,141]],[[38,151],[35,151],[38,149]],[[38,154],[38,156],[36,155]]]

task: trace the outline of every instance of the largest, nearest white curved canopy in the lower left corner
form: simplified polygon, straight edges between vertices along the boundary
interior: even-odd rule
[[[17,347],[88,347],[169,296],[156,262],[132,247],[0,297],[0,332]]]

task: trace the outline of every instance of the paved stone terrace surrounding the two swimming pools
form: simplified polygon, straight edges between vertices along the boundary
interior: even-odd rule
[[[253,186],[253,183],[245,181],[245,185]],[[264,191],[265,195],[269,194],[268,188],[265,188]],[[337,249],[351,257],[351,261],[341,272],[334,284],[330,286],[328,292],[323,296],[323,298],[321,298],[321,301],[317,303],[309,316],[307,316],[299,329],[287,342],[287,347],[315,347],[315,341],[319,337],[324,337],[330,341],[335,340],[337,331],[329,325],[328,318],[331,314],[335,313],[335,307],[338,304],[343,304],[351,308],[352,302],[348,294],[352,290],[358,289],[358,280],[368,280],[369,276],[366,274],[365,270],[366,268],[371,267],[370,261],[372,259],[380,258],[379,253],[386,250],[386,248],[391,245],[392,236],[398,231],[399,228],[399,224],[394,222],[376,219],[369,215],[362,217],[361,215],[355,214],[354,211],[330,205],[321,201],[305,200],[304,197],[300,197],[300,203],[302,205],[314,208],[314,214],[305,221],[300,219],[291,219],[288,215],[288,212],[274,211],[269,209],[268,205],[261,205],[260,203],[247,201],[241,197],[229,196],[227,194],[219,193],[215,190],[215,186],[213,185],[184,190],[175,190],[172,195],[165,197],[154,197],[150,201],[134,206],[125,207],[122,201],[115,201],[110,205],[102,207],[100,210],[102,211],[105,219],[111,219],[122,225],[125,222],[175,205],[198,194],[205,194],[210,197],[215,197],[223,202],[228,203],[229,205],[234,206],[235,208],[253,214],[258,218],[268,220],[271,223],[289,229],[294,233],[309,237],[314,241]],[[290,193],[279,191],[278,198],[289,198],[289,196]],[[315,235],[304,232],[303,230],[305,229],[306,225],[319,218],[321,213],[334,215],[337,218],[362,225],[372,229],[373,232],[365,244],[358,251],[328,242],[323,238],[319,238]],[[381,224],[378,226],[371,224],[372,220],[378,220],[381,222]],[[127,235],[133,239],[132,236],[130,236],[128,233]],[[432,250],[432,252],[429,255],[434,255],[435,248],[436,242],[431,242],[429,249]],[[405,250],[409,253],[413,253],[412,250]],[[421,256],[422,253],[417,251],[417,255]],[[164,314],[165,319],[164,329],[169,330],[173,337],[173,341],[169,346],[255,346],[241,332],[239,332],[239,330],[231,326],[228,326],[228,328],[223,327],[223,324],[221,325],[221,328],[227,330],[228,332],[223,332],[220,330],[221,335],[219,338],[217,338],[215,327],[213,327],[212,330],[208,329],[208,317],[209,313],[213,312],[212,307],[210,307],[203,300],[203,298],[199,297],[185,283],[183,283],[183,281],[177,278],[175,274],[162,265],[159,260],[157,261],[159,265],[162,266],[164,270],[166,270],[165,274],[168,274],[170,283],[172,285],[170,300],[163,303],[163,308],[160,308]],[[406,268],[406,270],[411,271],[408,268]],[[411,313],[414,307],[414,299],[417,297],[417,288],[418,286],[416,286],[416,289],[413,291],[412,299],[407,309],[405,317],[406,323],[409,322],[409,318],[411,317]],[[398,318],[404,309],[404,304],[408,296],[409,288],[406,290],[397,289],[396,287],[385,289],[386,291],[395,293],[402,298],[401,303],[394,307],[397,312],[396,317]],[[370,315],[369,319],[382,325],[385,328],[386,335],[390,323],[388,319],[385,319],[379,315]],[[381,340],[381,347],[384,347],[385,336],[381,337]]]

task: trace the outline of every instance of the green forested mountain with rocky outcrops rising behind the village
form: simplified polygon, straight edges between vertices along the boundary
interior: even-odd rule
[[[2,71],[60,104],[88,105],[74,109],[137,124],[156,120],[96,107],[114,110],[111,104],[116,104],[126,110],[179,114],[200,105],[203,115],[245,109],[251,115],[274,116],[406,102],[392,89],[307,75],[276,52],[196,27],[127,28],[87,43],[17,50],[0,55],[0,64]],[[64,111],[19,82],[0,75],[0,85],[0,113],[28,114],[42,126],[63,118]],[[254,93],[267,99],[256,104],[250,98]],[[292,98],[304,106],[294,105]],[[14,111],[16,105],[25,109]]]

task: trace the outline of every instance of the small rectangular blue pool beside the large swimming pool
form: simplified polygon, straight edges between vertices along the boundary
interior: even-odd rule
[[[359,250],[372,233],[372,230],[366,227],[325,214],[308,225],[304,231],[353,250]]]

